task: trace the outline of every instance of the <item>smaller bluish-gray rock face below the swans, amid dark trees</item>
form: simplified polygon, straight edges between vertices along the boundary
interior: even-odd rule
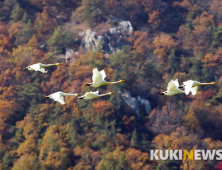
[[[140,96],[132,97],[129,91],[120,92],[124,102],[129,105],[132,110],[139,115],[139,109],[142,105],[145,106],[146,114],[148,114],[151,110],[150,102],[145,99],[141,99]]]

